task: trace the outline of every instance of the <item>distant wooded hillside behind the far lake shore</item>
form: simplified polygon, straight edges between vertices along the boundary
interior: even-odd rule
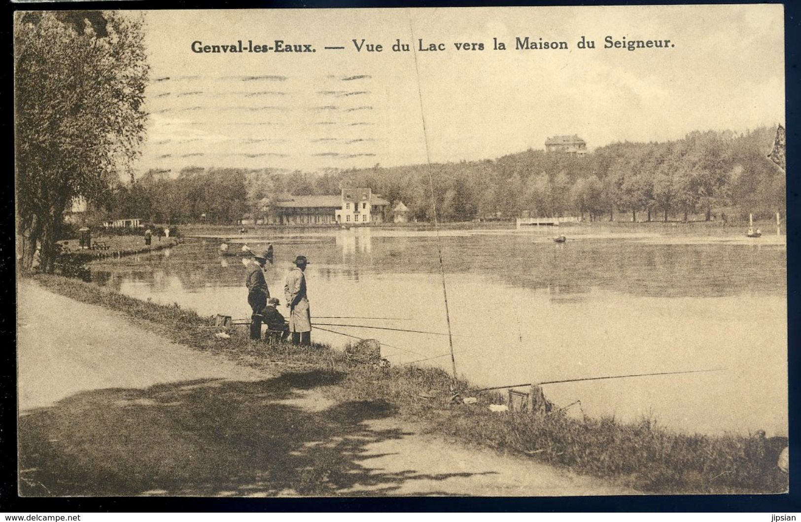
[[[497,160],[287,172],[264,168],[184,168],[177,177],[151,171],[117,184],[104,214],[156,222],[234,223],[263,212],[281,194],[337,194],[368,187],[403,201],[411,216],[433,217],[429,172],[442,221],[582,215],[636,221],[712,219],[718,213],[769,217],[785,210],[785,175],[767,154],[776,127],[737,134],[691,132],[666,143],[615,143],[586,156],[529,149]],[[205,216],[203,216],[205,215]]]

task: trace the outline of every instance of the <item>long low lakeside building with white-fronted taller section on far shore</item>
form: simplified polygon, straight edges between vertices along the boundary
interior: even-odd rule
[[[268,225],[368,225],[385,220],[389,202],[370,188],[343,188],[339,196],[281,196],[268,209]]]

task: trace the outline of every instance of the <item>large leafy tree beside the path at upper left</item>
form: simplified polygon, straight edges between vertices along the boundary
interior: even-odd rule
[[[74,198],[130,172],[144,136],[143,21],[111,11],[17,13],[14,125],[18,261],[51,270]],[[107,193],[107,192],[106,192]]]

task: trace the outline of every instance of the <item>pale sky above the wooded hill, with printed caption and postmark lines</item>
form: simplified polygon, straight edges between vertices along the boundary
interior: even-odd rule
[[[784,122],[783,6],[154,10],[135,164],[362,168],[484,160],[578,134],[590,149]],[[583,36],[595,49],[578,49]],[[515,38],[569,49],[516,50]],[[674,47],[603,49],[604,40]],[[380,44],[356,51],[352,42]],[[396,39],[410,51],[393,52]],[[507,50],[493,49],[493,38]],[[309,44],[195,53],[192,42]],[[445,51],[420,51],[445,44]],[[481,42],[484,51],[457,51]],[[324,47],[344,47],[325,50]]]

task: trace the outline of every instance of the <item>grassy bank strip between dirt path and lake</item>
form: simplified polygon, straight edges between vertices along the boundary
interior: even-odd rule
[[[159,305],[66,277],[37,275],[50,291],[78,301],[127,314],[143,326],[191,346],[238,362],[290,372],[316,369],[336,372],[337,386],[322,391],[342,400],[383,400],[396,415],[422,423],[433,434],[497,448],[521,458],[595,475],[646,493],[780,493],[788,475],[777,459],[787,437],[755,435],[686,435],[658,427],[650,419],[623,423],[557,412],[528,415],[492,412],[503,403],[497,393],[477,395],[477,403],[453,402],[475,390],[469,382],[453,382],[444,370],[421,366],[380,367],[354,362],[329,346],[265,346],[244,330],[215,337],[214,318],[201,317],[175,305]]]

